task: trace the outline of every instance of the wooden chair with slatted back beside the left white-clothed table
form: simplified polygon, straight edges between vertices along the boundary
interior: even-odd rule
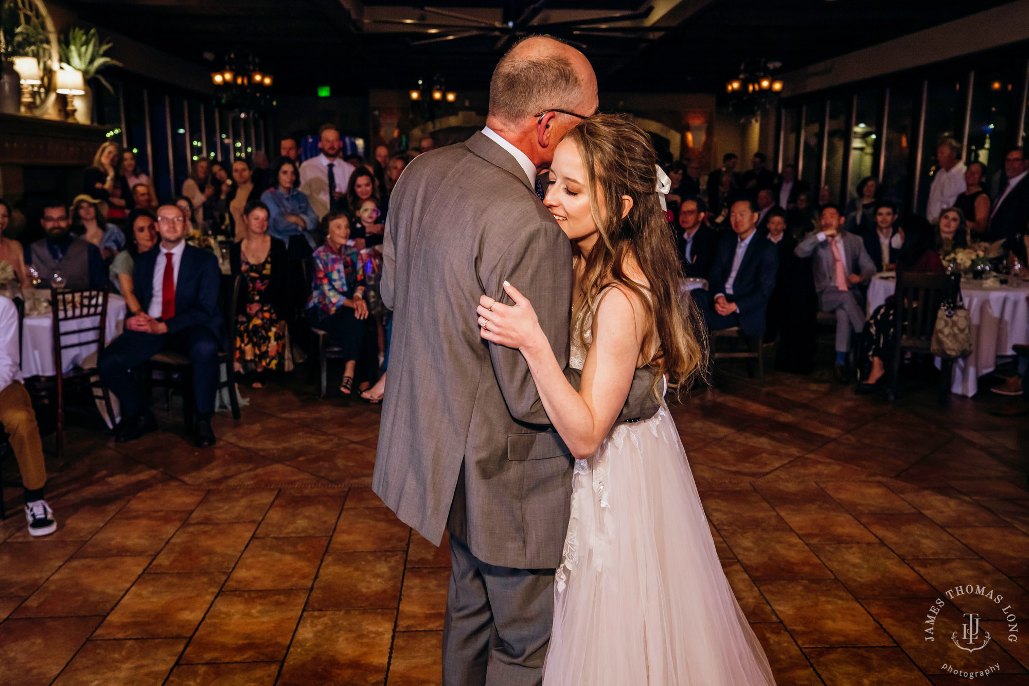
[[[58,409],[57,455],[60,460],[64,456],[65,381],[85,379],[94,401],[104,401],[107,416],[114,416],[111,395],[96,373],[96,355],[91,354],[83,359],[83,367],[77,367],[69,372],[64,371],[65,350],[92,344],[97,345],[98,351],[104,349],[107,338],[107,288],[55,289],[50,293],[50,313],[54,317],[54,370],[57,377]]]

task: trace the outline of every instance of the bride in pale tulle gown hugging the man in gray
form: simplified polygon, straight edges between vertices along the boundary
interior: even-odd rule
[[[679,305],[679,266],[654,192],[646,133],[598,114],[558,145],[543,201],[572,241],[575,289],[565,379],[532,304],[483,296],[482,337],[525,356],[555,428],[576,457],[555,584],[544,686],[760,686],[768,659],[722,572],[675,423],[614,426],[635,370],[686,382],[702,329]]]

